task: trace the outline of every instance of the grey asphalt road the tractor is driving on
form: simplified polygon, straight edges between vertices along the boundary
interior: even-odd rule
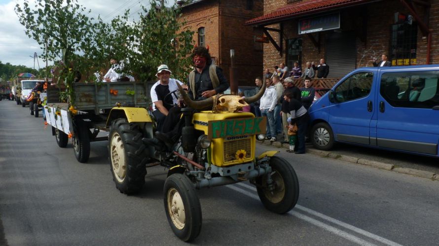
[[[140,194],[120,194],[106,142],[92,143],[89,162],[78,163],[71,143],[59,148],[41,116],[28,111],[0,101],[0,245],[186,245],[166,220],[166,170],[149,168]],[[194,244],[437,245],[438,182],[313,154],[279,155],[299,178],[293,211],[266,211],[248,183],[203,189]]]

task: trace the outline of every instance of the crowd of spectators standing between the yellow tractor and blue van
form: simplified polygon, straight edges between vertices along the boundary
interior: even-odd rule
[[[289,143],[287,152],[295,154],[305,153],[305,134],[309,124],[308,109],[314,101],[315,90],[312,87],[313,79],[326,78],[329,66],[325,59],[321,59],[316,66],[314,62],[306,62],[302,71],[298,62],[289,69],[285,63],[274,66],[274,71],[265,69],[262,77],[255,79],[257,89],[266,84],[266,90],[259,101],[255,102],[256,117],[267,118],[266,134],[263,137],[271,142],[279,141],[283,136],[283,143]],[[303,79],[303,87],[294,85],[293,79]],[[263,140],[263,139],[259,139]]]

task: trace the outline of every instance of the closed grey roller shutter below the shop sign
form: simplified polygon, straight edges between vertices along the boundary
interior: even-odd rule
[[[357,67],[355,35],[350,32],[333,32],[326,40],[328,77],[343,77]]]

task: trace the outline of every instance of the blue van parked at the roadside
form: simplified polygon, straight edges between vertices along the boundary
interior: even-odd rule
[[[359,68],[312,104],[311,142],[438,157],[438,81],[439,64]]]

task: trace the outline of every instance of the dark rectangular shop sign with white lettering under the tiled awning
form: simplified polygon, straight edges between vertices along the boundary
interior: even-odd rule
[[[340,28],[340,13],[321,15],[298,21],[299,34],[327,31]]]

